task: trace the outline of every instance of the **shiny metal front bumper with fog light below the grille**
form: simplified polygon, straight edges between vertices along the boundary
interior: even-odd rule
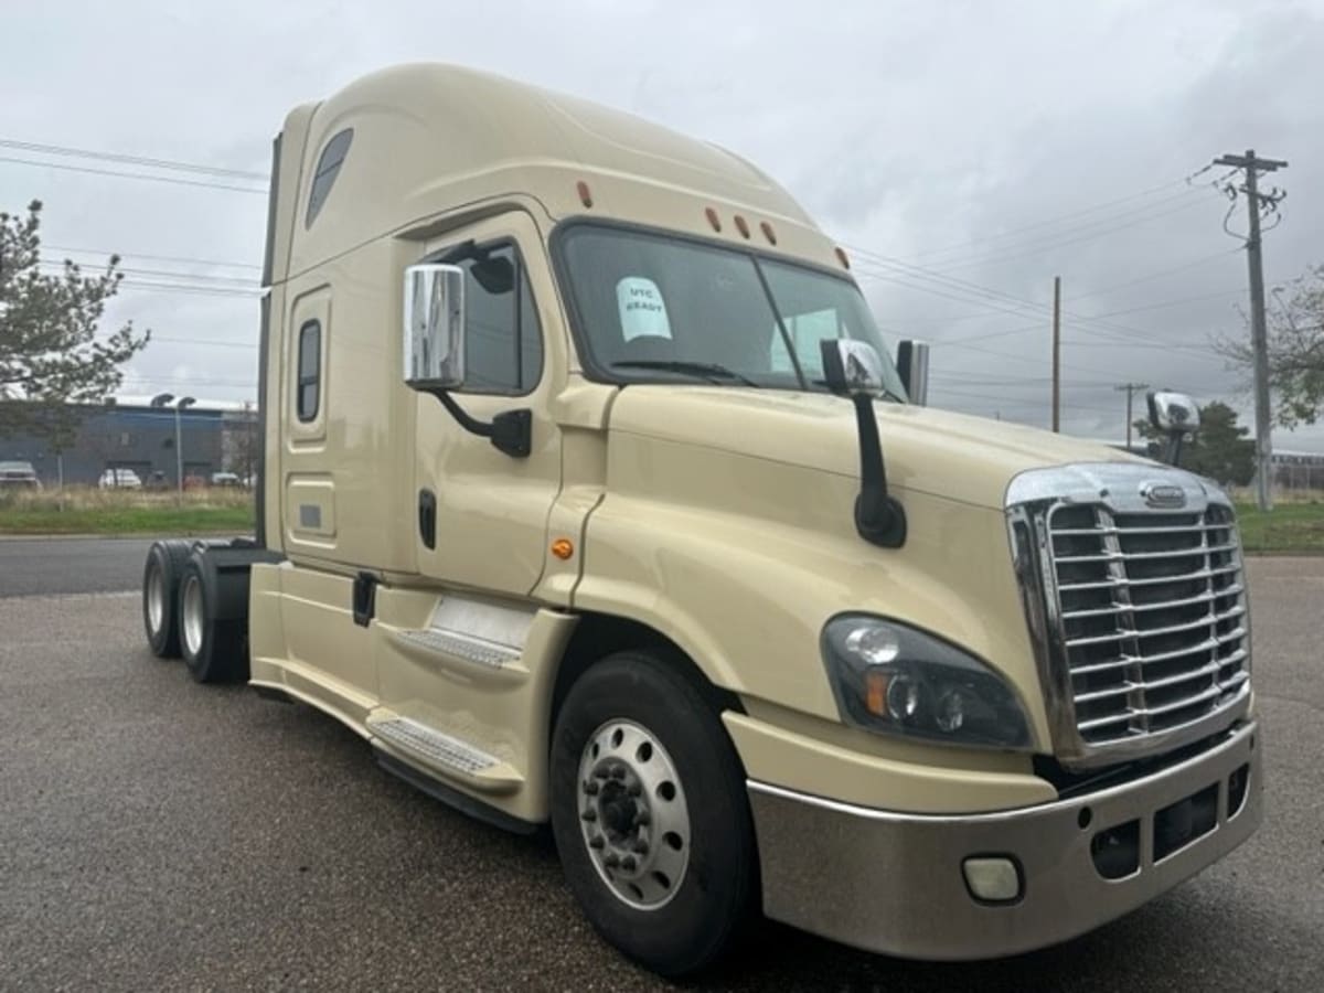
[[[1247,772],[1235,806],[1235,784]],[[1189,805],[1174,806],[1214,792],[1211,826],[1192,818]],[[992,814],[899,814],[755,781],[749,804],[769,918],[873,952],[992,959],[1084,933],[1246,841],[1262,816],[1260,748],[1255,722],[1245,722],[1143,779]],[[1186,839],[1192,820],[1197,837]],[[1110,833],[1115,855],[1116,839],[1132,831],[1135,869],[1104,878],[1091,853],[1095,838]],[[963,863],[989,855],[1017,863],[1019,899],[992,904],[970,895]]]

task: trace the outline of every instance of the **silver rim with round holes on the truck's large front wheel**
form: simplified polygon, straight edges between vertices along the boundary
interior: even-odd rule
[[[576,784],[580,834],[598,876],[622,903],[665,907],[690,865],[690,808],[671,755],[633,720],[589,735]]]

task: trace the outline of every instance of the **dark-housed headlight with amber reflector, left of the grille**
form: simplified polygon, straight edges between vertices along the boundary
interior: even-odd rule
[[[1029,748],[1012,688],[973,655],[869,614],[839,614],[822,636],[842,720],[866,731],[963,745]]]

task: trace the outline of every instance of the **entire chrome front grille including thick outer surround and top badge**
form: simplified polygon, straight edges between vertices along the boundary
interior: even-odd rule
[[[1157,485],[1180,489],[1184,506],[1151,507],[1145,493]],[[1226,522],[1211,520],[1223,512]],[[1017,475],[1006,515],[1059,761],[1090,768],[1156,755],[1249,712],[1250,622],[1235,519],[1221,490],[1177,469],[1062,466]],[[1186,519],[1194,523],[1170,523]],[[1057,553],[1057,539],[1066,553]],[[1180,547],[1152,547],[1168,539]],[[1080,548],[1091,543],[1098,551]],[[1168,563],[1181,572],[1170,575]],[[1156,602],[1165,584],[1184,592]],[[1075,609],[1063,606],[1068,598]],[[1148,626],[1160,610],[1174,616]]]

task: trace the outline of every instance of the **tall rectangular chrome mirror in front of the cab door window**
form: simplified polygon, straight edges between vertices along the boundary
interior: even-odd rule
[[[405,269],[404,367],[413,389],[465,384],[465,270],[459,266]]]

